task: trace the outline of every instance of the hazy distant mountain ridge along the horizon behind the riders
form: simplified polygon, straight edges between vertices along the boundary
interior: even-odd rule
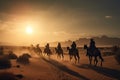
[[[120,45],[120,38],[117,37],[108,37],[106,35],[103,35],[101,37],[92,37],[95,42],[96,46],[99,47],[111,47],[113,45]],[[50,46],[55,47],[58,44],[59,41],[56,42],[50,42]],[[75,40],[78,47],[83,47],[84,44],[88,44],[90,42],[90,38],[79,38]],[[60,41],[63,47],[70,46],[72,44],[72,40],[67,41]],[[0,45],[12,45],[12,43],[9,42],[0,42]],[[43,45],[44,46],[44,45]]]

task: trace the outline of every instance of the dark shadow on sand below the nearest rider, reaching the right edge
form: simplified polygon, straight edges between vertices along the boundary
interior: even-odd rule
[[[79,68],[84,68],[84,69],[92,69],[100,74],[103,74],[105,76],[111,77],[111,78],[115,78],[117,80],[120,80],[120,70],[115,70],[115,69],[110,69],[110,68],[106,68],[106,67],[95,67],[92,65],[88,65],[88,64],[83,64],[83,65],[76,65]]]

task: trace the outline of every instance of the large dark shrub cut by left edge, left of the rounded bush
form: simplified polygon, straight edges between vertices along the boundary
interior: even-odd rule
[[[0,69],[6,69],[11,67],[10,60],[5,56],[0,56]]]

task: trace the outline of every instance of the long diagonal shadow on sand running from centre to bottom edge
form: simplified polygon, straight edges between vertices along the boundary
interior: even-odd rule
[[[47,60],[45,58],[43,58],[43,60],[46,61],[46,62],[48,62],[48,63],[50,63],[50,64],[52,64],[53,66],[55,66],[59,70],[62,70],[62,71],[66,72],[66,73],[68,73],[70,75],[73,75],[73,76],[79,78],[80,80],[89,80],[88,78],[80,75],[79,73],[77,73],[77,72],[75,72],[75,71],[67,68],[65,65],[59,63],[58,61],[55,61],[53,59]]]

